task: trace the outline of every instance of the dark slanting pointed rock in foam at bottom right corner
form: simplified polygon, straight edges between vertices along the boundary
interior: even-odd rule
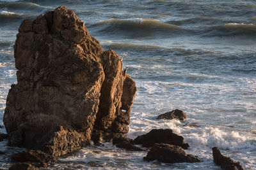
[[[214,163],[221,166],[225,170],[243,170],[240,162],[234,162],[230,157],[226,157],[220,153],[220,150],[216,147],[212,148],[212,156]]]

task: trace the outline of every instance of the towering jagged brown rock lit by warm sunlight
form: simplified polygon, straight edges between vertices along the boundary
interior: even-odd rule
[[[126,135],[136,85],[74,11],[60,6],[25,19],[14,57],[17,84],[3,119],[9,145],[60,156]]]

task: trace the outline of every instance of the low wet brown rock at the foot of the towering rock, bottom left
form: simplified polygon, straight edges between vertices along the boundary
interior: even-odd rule
[[[47,164],[53,164],[56,159],[41,150],[29,150],[16,153],[11,157],[13,162],[35,162],[38,166],[47,167]]]

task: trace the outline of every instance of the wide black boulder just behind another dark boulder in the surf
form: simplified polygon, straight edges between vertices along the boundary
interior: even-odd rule
[[[170,145],[177,145],[184,149],[189,148],[189,144],[185,143],[185,139],[173,133],[172,129],[152,129],[147,134],[138,136],[133,141],[136,145],[142,145],[144,147],[150,147],[155,143],[166,143]]]

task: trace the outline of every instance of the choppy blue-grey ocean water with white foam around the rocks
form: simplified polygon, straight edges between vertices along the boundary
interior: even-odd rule
[[[6,96],[16,83],[13,45],[24,18],[65,5],[105,50],[123,57],[138,91],[127,136],[173,129],[191,145],[195,164],[144,162],[147,152],[111,143],[87,146],[49,169],[220,169],[211,148],[256,169],[256,3],[240,0],[0,1],[0,125]],[[183,110],[188,119],[156,120]],[[198,125],[198,127],[193,127]],[[5,132],[4,128],[0,132]],[[0,142],[0,167],[22,148]]]

